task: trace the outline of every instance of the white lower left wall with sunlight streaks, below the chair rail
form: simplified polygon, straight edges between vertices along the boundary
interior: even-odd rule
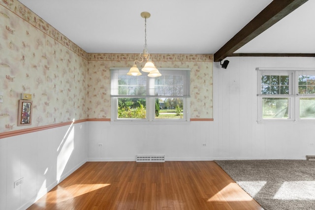
[[[0,139],[0,210],[28,208],[83,165],[86,136],[83,122]]]

